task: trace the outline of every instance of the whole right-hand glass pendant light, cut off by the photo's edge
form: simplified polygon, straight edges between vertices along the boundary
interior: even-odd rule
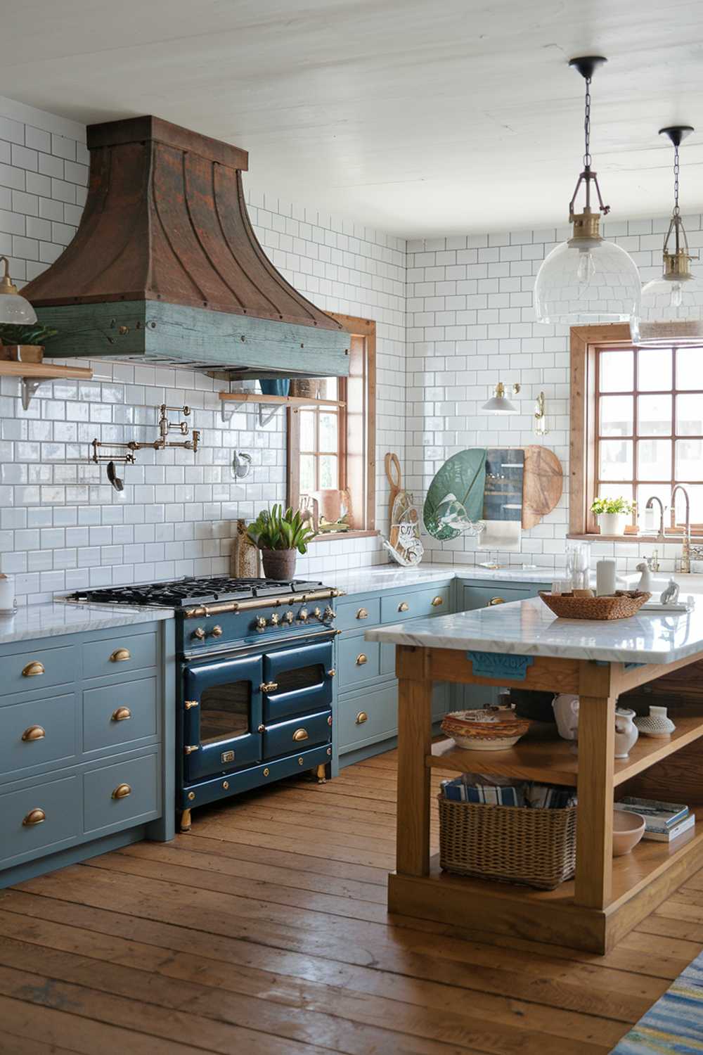
[[[679,209],[679,147],[692,131],[690,124],[673,124],[659,133],[673,143],[673,212],[664,238],[664,273],[643,288],[639,325],[630,324],[632,341],[640,347],[703,340],[703,280],[691,274],[696,257],[688,252]]]

